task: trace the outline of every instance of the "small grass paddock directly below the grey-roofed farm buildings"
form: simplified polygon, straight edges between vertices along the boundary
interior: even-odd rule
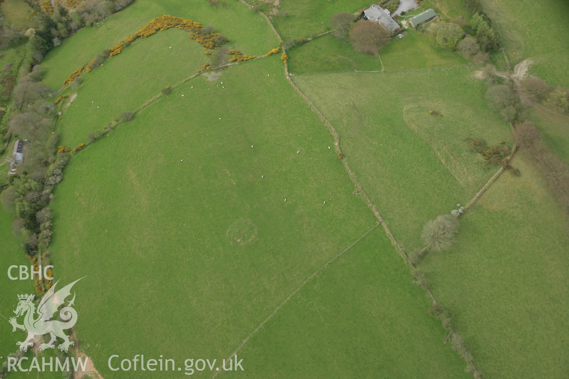
[[[402,39],[394,38],[380,51],[380,58],[355,52],[352,45],[322,36],[289,52],[290,71],[294,74],[337,70],[386,71],[435,68],[467,64],[460,55],[444,51],[430,43],[428,37],[410,30]]]

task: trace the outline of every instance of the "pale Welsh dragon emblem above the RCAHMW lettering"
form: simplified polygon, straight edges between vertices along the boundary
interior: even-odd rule
[[[15,332],[16,329],[21,329],[27,331],[28,335],[26,339],[22,342],[17,342],[20,350],[27,351],[27,349],[34,345],[34,336],[44,334],[50,334],[51,340],[48,343],[43,343],[40,345],[40,349],[53,349],[55,348],[55,343],[57,337],[63,339],[63,343],[59,344],[59,349],[61,351],[67,352],[69,346],[74,345],[73,341],[69,341],[69,336],[64,333],[64,330],[72,328],[77,322],[77,311],[71,306],[75,302],[75,292],[73,292],[73,298],[67,303],[66,306],[61,308],[59,311],[60,320],[52,320],[53,314],[59,309],[61,305],[64,305],[65,299],[71,296],[71,288],[74,284],[83,278],[77,279],[61,288],[59,291],[55,291],[57,282],[43,295],[42,301],[38,304],[38,310],[34,303],[34,295],[22,294],[18,295],[18,306],[14,313],[15,317],[9,319],[12,324],[12,331]],[[16,318],[24,315],[23,325],[18,324]]]

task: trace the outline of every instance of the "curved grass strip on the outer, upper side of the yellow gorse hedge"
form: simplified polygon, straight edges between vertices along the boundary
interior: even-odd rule
[[[99,23],[100,26],[83,28],[70,38],[64,39],[60,46],[52,49],[42,61],[42,67],[47,69],[44,82],[53,89],[61,88],[65,78],[81,65],[93,60],[102,50],[111,48],[124,40],[145,26],[151,19],[164,14],[191,19],[200,22],[203,26],[211,25],[216,32],[220,32],[229,39],[229,44],[248,55],[262,55],[277,46],[277,38],[260,15],[241,3],[231,2],[230,4],[228,8],[215,8],[208,6],[205,1],[137,0],[124,10],[107,18],[104,23]],[[176,32],[179,31],[159,31],[148,39],[156,38],[158,34]],[[188,33],[185,32],[185,34]],[[188,45],[196,43],[187,39]],[[133,45],[125,48],[121,54],[113,58],[121,56],[137,43],[139,41],[135,41]],[[164,48],[169,46],[166,44],[165,42]],[[205,57],[203,51],[201,55]],[[138,79],[147,80],[144,77]],[[120,79],[116,77],[114,80]]]

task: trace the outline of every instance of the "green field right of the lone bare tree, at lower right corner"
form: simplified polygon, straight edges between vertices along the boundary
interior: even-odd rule
[[[419,269],[495,378],[561,378],[569,360],[569,227],[523,153],[461,217],[455,246]]]

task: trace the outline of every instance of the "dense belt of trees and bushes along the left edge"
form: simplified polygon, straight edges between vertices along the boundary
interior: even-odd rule
[[[0,30],[0,48],[27,39],[26,57],[23,58],[20,77],[12,93],[13,113],[8,122],[11,134],[26,141],[23,150],[25,159],[18,165],[17,174],[7,178],[0,202],[7,211],[15,213],[14,234],[21,237],[23,249],[35,266],[48,264],[47,246],[52,235],[49,203],[53,198],[53,186],[61,182],[63,168],[70,155],[85,145],[80,143],[73,149],[57,147],[53,126],[60,114],[56,113],[55,105],[67,95],[53,101],[52,90],[42,82],[45,71],[39,63],[51,48],[61,43],[61,39],[123,9],[132,1],[88,0],[73,7],[60,5],[54,10],[49,2],[40,6],[26,0],[38,15],[36,27],[23,33],[6,27]],[[100,63],[101,58],[97,56],[81,71],[86,67],[93,69]],[[41,281],[36,277],[35,287],[39,294],[50,286],[50,281]]]

